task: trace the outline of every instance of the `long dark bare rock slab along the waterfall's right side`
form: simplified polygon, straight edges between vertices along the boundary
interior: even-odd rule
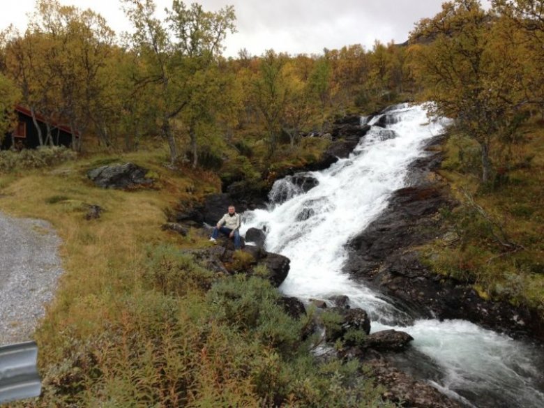
[[[347,271],[421,317],[467,319],[514,337],[544,339],[543,323],[534,312],[485,301],[471,285],[437,275],[421,262],[417,245],[451,233],[437,216],[439,209],[456,205],[433,172],[439,163],[440,153],[432,151],[411,165],[412,186],[394,192],[379,218],[349,243]]]

